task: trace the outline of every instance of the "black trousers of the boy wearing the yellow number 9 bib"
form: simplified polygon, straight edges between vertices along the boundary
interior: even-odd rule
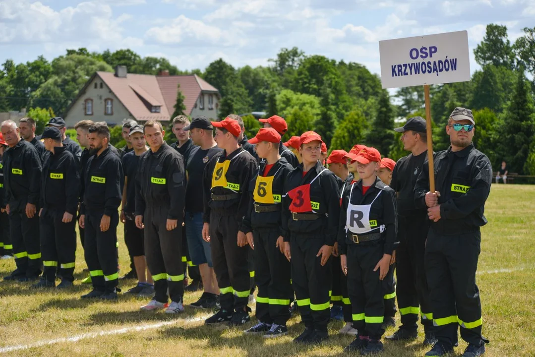
[[[234,214],[210,214],[213,270],[219,285],[219,303],[226,311],[243,310],[249,301],[249,246],[238,247],[238,229]]]

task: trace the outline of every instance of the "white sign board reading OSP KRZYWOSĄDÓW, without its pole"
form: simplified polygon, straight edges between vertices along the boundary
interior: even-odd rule
[[[383,88],[470,80],[468,32],[379,41]]]

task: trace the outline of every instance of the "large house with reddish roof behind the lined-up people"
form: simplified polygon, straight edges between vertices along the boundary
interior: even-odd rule
[[[85,119],[109,125],[120,124],[125,118],[169,122],[179,84],[186,115],[218,118],[219,91],[198,75],[169,75],[167,71],[133,74],[126,66],[117,66],[114,73],[95,72],[67,107],[64,119],[68,127]]]

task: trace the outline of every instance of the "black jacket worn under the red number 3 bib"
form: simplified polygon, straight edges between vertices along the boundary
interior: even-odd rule
[[[327,170],[312,183],[310,187],[310,201],[318,202],[319,207],[314,211],[320,215],[315,221],[294,221],[289,206],[292,199],[289,191],[301,185],[310,184],[318,173],[326,170],[318,161],[303,177],[303,164],[297,166],[288,174],[284,184],[285,196],[282,198],[281,236],[285,242],[290,241],[291,234],[315,234],[325,237],[325,244],[333,246],[338,231],[340,214],[340,188],[337,177]],[[303,212],[303,214],[314,212]]]

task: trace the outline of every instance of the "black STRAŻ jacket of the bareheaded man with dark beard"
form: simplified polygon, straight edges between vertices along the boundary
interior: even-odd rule
[[[89,211],[103,211],[106,216],[117,214],[123,196],[123,184],[123,164],[110,147],[99,156],[91,155],[82,175],[80,214]]]

